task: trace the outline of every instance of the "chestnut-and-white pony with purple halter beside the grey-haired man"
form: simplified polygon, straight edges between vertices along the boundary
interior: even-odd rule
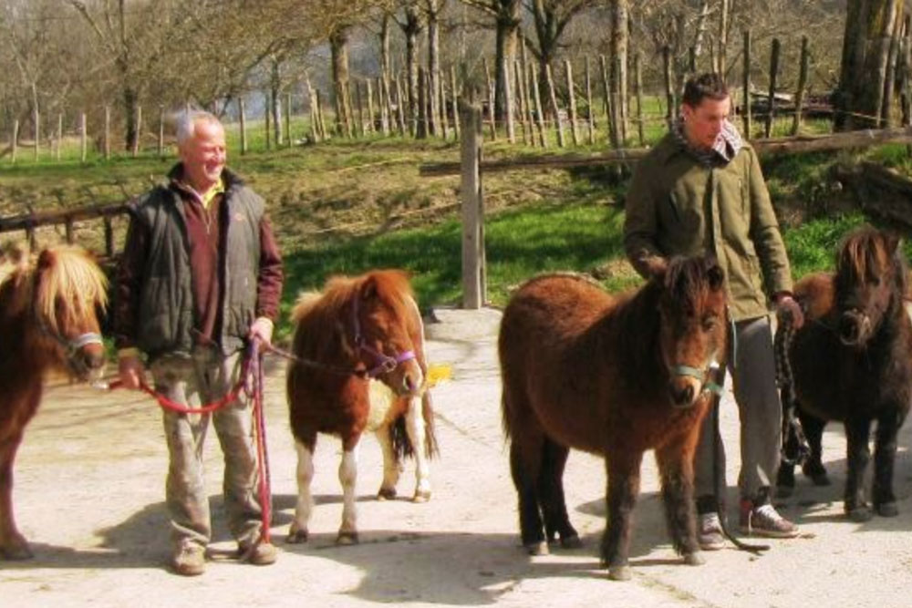
[[[288,540],[307,540],[317,433],[342,440],[342,525],[337,542],[358,542],[355,482],[358,442],[374,431],[383,451],[378,499],[396,496],[403,456],[414,455],[414,500],[430,499],[428,460],[436,453],[425,383],[424,326],[407,273],[334,277],[322,294],[304,294],[293,313],[295,359],[287,392],[297,449],[298,499]]]

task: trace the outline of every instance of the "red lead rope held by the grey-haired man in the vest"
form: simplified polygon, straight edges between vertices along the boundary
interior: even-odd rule
[[[109,383],[110,390],[121,388],[123,383],[120,380],[114,380]],[[261,542],[271,542],[270,527],[272,525],[272,489],[271,480],[269,479],[269,453],[266,449],[266,417],[263,407],[263,354],[259,350],[259,341],[254,340],[249,346],[249,350],[244,356],[244,364],[241,368],[241,375],[238,376],[237,382],[224,397],[202,407],[187,407],[176,401],[165,397],[146,381],[140,378],[140,390],[153,397],[164,409],[169,409],[179,414],[209,414],[217,409],[227,406],[229,403],[237,400],[241,396],[241,391],[253,403],[254,432],[256,435],[256,465],[259,469],[260,487],[259,499],[260,510],[262,511],[262,526],[260,527],[260,538],[254,542],[247,550],[242,559],[249,557],[256,545]]]

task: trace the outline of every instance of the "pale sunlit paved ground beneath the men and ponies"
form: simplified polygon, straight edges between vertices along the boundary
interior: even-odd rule
[[[361,543],[336,547],[341,511],[338,442],[316,449],[316,511],[311,541],[283,542],[295,503],[295,456],[285,421],[284,366],[267,383],[275,495],[274,566],[233,562],[221,513],[221,454],[207,446],[213,506],[214,562],[195,579],[165,568],[166,454],[158,410],[145,397],[87,386],[52,386],[26,435],[16,467],[21,530],[36,558],[0,562],[2,606],[410,605],[503,606],[831,606],[909,605],[912,589],[912,463],[909,428],[896,467],[899,517],[866,524],[841,516],[845,439],[824,438],[834,487],[800,481],[782,511],[803,538],[773,541],[762,557],[727,549],[700,568],[679,564],[664,531],[655,466],[646,460],[633,541],[634,579],[609,582],[598,569],[604,528],[602,462],[574,453],[565,477],[571,518],[584,538],[576,551],[529,559],[518,547],[515,495],[500,428],[494,353],[499,314],[438,311],[429,325],[432,361],[450,364],[451,381],[435,388],[442,458],[432,464],[427,504],[378,502],[376,440],[362,444],[358,478]],[[737,475],[737,421],[723,403],[730,451],[730,503]],[[407,465],[399,493],[413,489]],[[732,511],[733,512],[733,511]]]

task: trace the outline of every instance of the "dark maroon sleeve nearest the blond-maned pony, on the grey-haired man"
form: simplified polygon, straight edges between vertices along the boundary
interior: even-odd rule
[[[114,279],[113,331],[114,345],[119,349],[136,346],[140,287],[148,248],[149,231],[131,214],[127,239]]]

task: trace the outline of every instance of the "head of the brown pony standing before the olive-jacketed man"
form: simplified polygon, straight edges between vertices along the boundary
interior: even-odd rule
[[[674,258],[654,279],[659,285],[659,359],[668,395],[689,407],[717,391],[715,370],[725,356],[725,274],[714,257]]]

